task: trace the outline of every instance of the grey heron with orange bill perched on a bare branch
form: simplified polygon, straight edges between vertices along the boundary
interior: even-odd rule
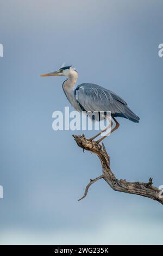
[[[105,89],[97,84],[93,83],[82,83],[76,88],[74,85],[78,79],[78,72],[73,66],[64,66],[57,71],[43,74],[41,76],[66,76],[67,79],[62,84],[64,93],[70,101],[71,105],[79,112],[111,112],[111,118],[115,121],[115,127],[108,133],[114,132],[118,129],[120,124],[116,120],[116,117],[127,118],[135,123],[139,123],[139,117],[134,114],[133,111],[128,107],[126,101],[124,101],[116,93],[109,89]],[[111,120],[111,127],[114,124]],[[90,138],[92,141],[97,136],[101,135],[105,130],[97,133],[97,135]],[[98,139],[97,143],[101,142],[106,136]]]

